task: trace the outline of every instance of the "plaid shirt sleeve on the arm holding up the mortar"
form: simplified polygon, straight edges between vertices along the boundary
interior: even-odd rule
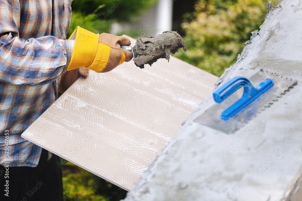
[[[14,2],[1,0],[0,4],[0,81],[29,86],[53,82],[66,71],[74,40],[20,38],[16,25],[20,13],[16,15]]]

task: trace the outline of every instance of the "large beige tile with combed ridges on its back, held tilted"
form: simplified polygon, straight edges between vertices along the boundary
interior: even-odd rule
[[[130,190],[217,79],[174,57],[89,71],[22,137]]]

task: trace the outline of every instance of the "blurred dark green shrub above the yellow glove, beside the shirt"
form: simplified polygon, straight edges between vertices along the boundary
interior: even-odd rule
[[[67,38],[77,26],[93,33],[109,33],[114,20],[129,21],[158,0],[73,0]]]

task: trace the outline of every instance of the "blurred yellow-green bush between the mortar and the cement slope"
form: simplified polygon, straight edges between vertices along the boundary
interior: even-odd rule
[[[267,13],[266,0],[198,0],[182,28],[187,52],[175,56],[220,76]]]

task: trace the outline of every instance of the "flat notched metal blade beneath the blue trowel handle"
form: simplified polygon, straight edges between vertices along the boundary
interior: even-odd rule
[[[223,133],[233,133],[240,129],[244,124],[248,123],[249,120],[255,118],[258,113],[270,108],[271,105],[278,101],[286,91],[290,90],[295,84],[297,84],[297,81],[295,80],[282,78],[264,71],[254,74],[249,78],[249,80],[253,86],[256,86],[266,78],[269,78],[274,82],[274,87],[263,93],[229,120],[221,119],[221,113],[241,98],[243,90],[238,90],[236,93],[233,93],[221,104],[216,103],[212,96],[212,106],[194,121]]]

